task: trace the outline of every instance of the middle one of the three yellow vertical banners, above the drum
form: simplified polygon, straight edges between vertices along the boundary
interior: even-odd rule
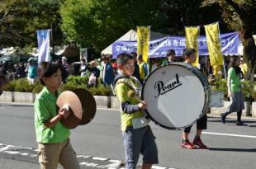
[[[185,27],[186,32],[186,47],[196,50],[196,60],[192,63],[193,66],[198,66],[198,47],[197,38],[199,34],[199,27]]]

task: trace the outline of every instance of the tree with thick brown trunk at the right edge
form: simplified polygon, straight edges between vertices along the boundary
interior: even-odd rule
[[[244,45],[244,60],[248,65],[245,79],[254,81],[256,67],[256,46],[253,31],[256,31],[256,1],[255,0],[205,0],[202,5],[210,6],[217,3],[222,8],[225,21],[236,31]]]

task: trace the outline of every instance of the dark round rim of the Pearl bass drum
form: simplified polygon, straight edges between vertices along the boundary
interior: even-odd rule
[[[187,64],[187,63],[170,63],[170,64],[168,64],[168,65],[160,66],[159,68],[164,68],[164,67],[167,67],[167,66],[169,66],[169,65],[177,65],[177,66],[180,66],[180,67],[183,67],[183,68],[187,68],[187,67],[186,67],[187,65],[191,66],[190,64]],[[185,65],[186,65],[186,66],[185,66]],[[149,75],[148,75],[147,77],[145,77],[145,82],[144,82],[144,85],[142,85],[142,90],[141,90],[141,99],[142,99],[143,101],[144,101],[144,95],[143,95],[143,94],[144,94],[144,91],[145,91],[145,83],[148,81],[149,77],[150,77],[155,71],[157,71],[159,68],[155,68],[151,73],[149,73]],[[192,68],[193,68],[193,67],[191,66],[190,68],[187,68],[187,69],[190,71]],[[200,71],[199,71],[199,72],[200,72]],[[199,78],[199,80],[200,80],[200,82],[201,82],[201,79],[200,79],[200,78]],[[208,81],[207,81],[207,82],[208,82]],[[209,84],[209,82],[208,82],[208,84]],[[210,85],[209,85],[209,87],[210,87]],[[206,93],[206,91],[207,91],[207,92],[210,93],[210,95],[211,95],[211,87],[210,87],[210,89],[209,89],[209,88],[206,89],[205,87],[203,87],[203,89],[204,89],[205,93]],[[205,95],[206,95],[206,94],[205,94]],[[209,105],[209,104],[210,104],[210,102],[211,102],[210,99],[211,99],[211,96],[210,96],[209,101],[208,101],[209,103],[206,104],[206,102],[205,102],[205,105],[204,105],[204,107],[203,107],[202,110],[205,109],[206,105]],[[206,100],[206,98],[205,98],[205,100]],[[202,111],[202,110],[201,110],[201,111]],[[192,121],[191,124],[187,124],[186,126],[183,126],[183,127],[169,127],[169,126],[166,126],[166,125],[164,125],[164,124],[160,124],[157,120],[154,120],[154,118],[149,114],[149,111],[148,111],[147,109],[145,109],[145,112],[146,112],[147,116],[149,117],[149,119],[154,122],[154,124],[157,124],[157,125],[159,125],[160,127],[163,127],[164,129],[185,129],[185,128],[187,128],[188,126],[191,126],[192,124],[196,123],[197,120],[199,120],[203,115],[206,115],[206,113],[200,114],[199,117],[198,117],[196,120]]]

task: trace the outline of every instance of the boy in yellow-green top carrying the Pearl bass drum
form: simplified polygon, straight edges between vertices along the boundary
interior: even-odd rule
[[[143,154],[143,169],[158,163],[158,150],[155,138],[145,118],[145,101],[128,96],[128,92],[140,92],[140,82],[132,77],[135,59],[130,54],[119,54],[116,59],[121,74],[116,77],[115,92],[121,102],[121,131],[126,153],[126,168],[135,169],[140,153]]]

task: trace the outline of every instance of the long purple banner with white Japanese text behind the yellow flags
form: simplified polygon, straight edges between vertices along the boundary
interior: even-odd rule
[[[199,56],[209,55],[206,36],[198,37]],[[225,55],[238,54],[239,34],[238,32],[220,35],[221,52]],[[186,48],[186,38],[183,36],[166,36],[159,40],[149,41],[149,58],[166,57],[168,49],[174,49],[177,56],[183,55]],[[116,41],[112,44],[112,57],[116,59],[118,54],[137,51],[136,41]]]

